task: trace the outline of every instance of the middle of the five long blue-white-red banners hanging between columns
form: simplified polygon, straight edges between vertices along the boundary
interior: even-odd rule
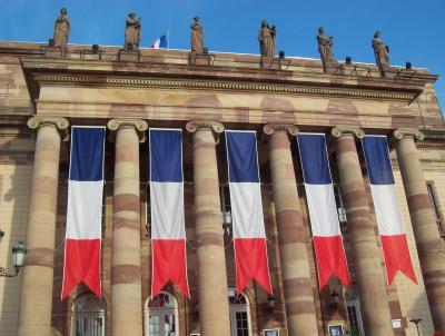
[[[255,131],[226,130],[237,291],[256,279],[271,293]]]

